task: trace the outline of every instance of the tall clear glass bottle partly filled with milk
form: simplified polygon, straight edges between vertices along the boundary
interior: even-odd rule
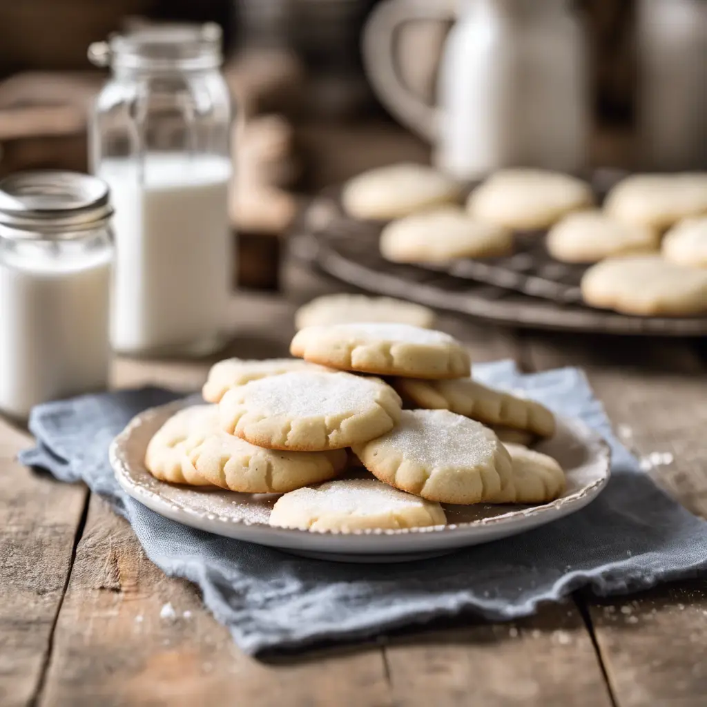
[[[156,25],[91,45],[112,76],[90,132],[115,206],[111,341],[126,354],[218,348],[230,269],[230,100],[216,25]]]

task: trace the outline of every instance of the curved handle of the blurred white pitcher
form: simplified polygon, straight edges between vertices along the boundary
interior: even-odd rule
[[[395,64],[395,34],[402,25],[416,20],[454,18],[454,4],[441,0],[385,0],[375,7],[363,28],[363,65],[373,90],[397,119],[431,143],[438,138],[440,109],[405,86]]]

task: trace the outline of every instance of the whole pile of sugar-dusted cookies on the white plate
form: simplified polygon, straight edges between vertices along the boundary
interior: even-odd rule
[[[281,493],[271,525],[344,532],[444,525],[441,504],[563,493],[559,464],[527,447],[554,433],[554,416],[469,378],[469,354],[448,334],[312,326],[291,354],[217,363],[204,385],[209,404],[177,413],[148,445],[151,474]]]

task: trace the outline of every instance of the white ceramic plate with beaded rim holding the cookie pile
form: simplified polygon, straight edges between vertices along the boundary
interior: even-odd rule
[[[410,530],[343,533],[274,528],[267,522],[278,498],[274,494],[233,493],[166,484],[148,474],[143,462],[147,444],[183,404],[175,402],[146,410],[115,438],[110,448],[110,462],[123,489],[156,513],[185,525],[305,556],[349,562],[390,562],[443,554],[525,532],[575,513],[596,498],[609,480],[607,443],[584,423],[559,419],[556,435],[537,447],[558,460],[567,473],[567,490],[552,503],[445,506],[449,525]],[[352,470],[351,473],[357,472]]]

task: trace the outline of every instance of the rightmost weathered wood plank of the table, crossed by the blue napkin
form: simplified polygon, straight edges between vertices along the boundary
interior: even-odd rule
[[[689,343],[532,337],[530,351],[541,368],[583,366],[619,436],[645,461],[658,452],[648,473],[707,517],[707,375]],[[619,707],[704,704],[706,582],[593,601],[588,611]]]

